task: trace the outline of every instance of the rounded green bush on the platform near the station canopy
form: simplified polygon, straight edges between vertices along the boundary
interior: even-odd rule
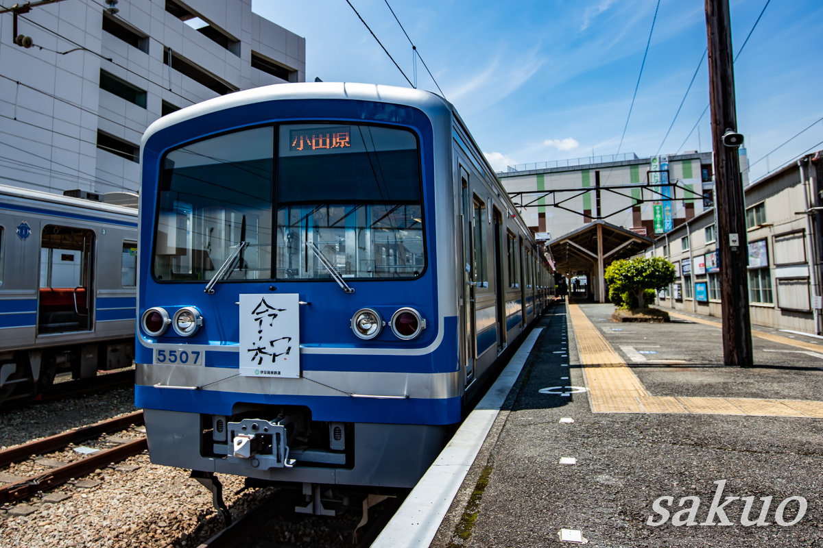
[[[663,257],[616,260],[606,269],[605,277],[612,301],[620,300],[624,308],[630,308],[634,299],[622,297],[627,293],[644,308],[646,290],[659,291],[674,282],[674,265]]]

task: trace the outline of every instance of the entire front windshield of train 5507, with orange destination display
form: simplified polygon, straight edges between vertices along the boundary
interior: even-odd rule
[[[414,279],[425,269],[412,131],[288,124],[200,140],[165,155],[158,200],[160,281],[210,280],[240,242],[224,279],[331,279],[329,265],[343,278]]]

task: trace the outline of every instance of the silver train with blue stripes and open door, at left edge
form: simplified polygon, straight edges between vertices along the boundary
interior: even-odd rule
[[[0,403],[131,366],[137,210],[0,185]]]

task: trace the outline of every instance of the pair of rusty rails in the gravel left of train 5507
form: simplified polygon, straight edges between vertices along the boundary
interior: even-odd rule
[[[100,421],[90,426],[84,426],[74,431],[63,432],[62,434],[49,436],[43,440],[36,440],[27,444],[17,445],[9,449],[0,451],[0,467],[7,467],[12,463],[26,461],[36,455],[43,455],[67,448],[71,444],[77,444],[92,440],[100,435],[123,431],[129,426],[139,426],[143,423],[142,412],[134,412],[124,417]],[[119,463],[125,458],[140,454],[146,449],[146,438],[141,437],[136,440],[118,444],[111,449],[102,449],[84,458],[80,458],[72,463],[54,467],[48,472],[35,474],[14,481],[10,484],[0,486],[0,504],[14,503],[23,500],[40,491],[50,490],[61,486],[73,478],[82,477],[98,468],[106,467],[112,463]]]

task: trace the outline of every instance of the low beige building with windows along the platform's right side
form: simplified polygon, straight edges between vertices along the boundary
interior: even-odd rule
[[[751,323],[821,334],[821,199],[823,151],[804,156],[745,189],[747,283]],[[658,305],[720,317],[714,208],[658,237],[647,256],[675,265],[677,280]]]

